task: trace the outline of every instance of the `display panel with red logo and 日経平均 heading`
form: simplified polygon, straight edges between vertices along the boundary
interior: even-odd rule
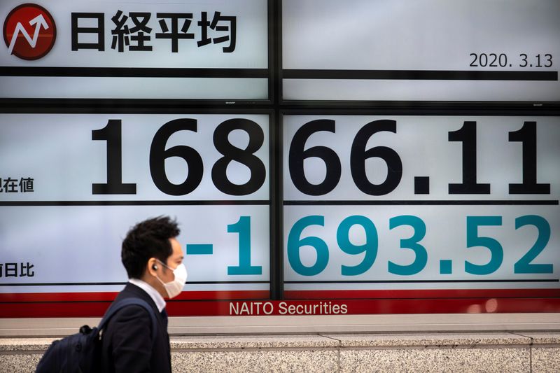
[[[0,98],[269,99],[268,1],[0,3]]]

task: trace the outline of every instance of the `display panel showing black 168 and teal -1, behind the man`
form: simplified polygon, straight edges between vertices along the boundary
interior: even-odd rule
[[[127,230],[160,215],[179,301],[269,297],[269,140],[268,114],[0,115],[1,299],[109,299]]]

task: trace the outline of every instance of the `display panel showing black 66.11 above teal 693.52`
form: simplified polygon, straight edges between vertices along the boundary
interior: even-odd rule
[[[286,298],[558,297],[559,139],[559,117],[284,115]]]

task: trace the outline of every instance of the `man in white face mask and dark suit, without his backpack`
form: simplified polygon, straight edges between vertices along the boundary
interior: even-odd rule
[[[135,225],[123,241],[121,260],[129,283],[115,304],[137,297],[153,308],[155,335],[148,310],[126,306],[110,319],[102,335],[103,372],[171,372],[165,297],[176,297],[187,279],[174,220],[160,216]]]

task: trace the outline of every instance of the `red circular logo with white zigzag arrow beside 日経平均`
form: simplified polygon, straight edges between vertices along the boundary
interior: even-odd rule
[[[13,8],[8,14],[3,35],[10,55],[39,59],[55,45],[57,27],[45,8],[27,3]]]

